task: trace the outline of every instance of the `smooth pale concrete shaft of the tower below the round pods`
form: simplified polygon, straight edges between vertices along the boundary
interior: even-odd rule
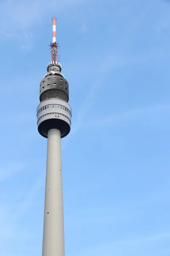
[[[48,131],[42,256],[64,256],[61,133]]]

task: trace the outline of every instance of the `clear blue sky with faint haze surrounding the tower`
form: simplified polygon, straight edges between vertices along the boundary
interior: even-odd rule
[[[42,253],[39,84],[57,16],[65,256],[170,255],[170,1],[0,1],[0,256]]]

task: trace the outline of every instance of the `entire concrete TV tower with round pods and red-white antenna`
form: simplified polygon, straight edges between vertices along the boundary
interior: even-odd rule
[[[65,255],[61,138],[70,132],[71,107],[68,105],[68,81],[57,61],[56,20],[56,17],[52,18],[51,62],[40,82],[40,105],[37,108],[38,131],[48,139],[42,256]]]

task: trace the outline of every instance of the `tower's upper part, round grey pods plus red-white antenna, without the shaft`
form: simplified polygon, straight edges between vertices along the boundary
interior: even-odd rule
[[[45,138],[48,137],[48,131],[51,129],[59,130],[61,138],[63,138],[69,134],[71,128],[68,81],[61,73],[61,64],[57,60],[56,21],[57,18],[53,17],[53,41],[50,44],[51,61],[47,66],[47,73],[40,81],[40,104],[37,108],[38,131]],[[52,239],[55,240],[54,237]],[[46,256],[46,252],[45,250],[43,256]],[[64,256],[63,253],[62,255]]]

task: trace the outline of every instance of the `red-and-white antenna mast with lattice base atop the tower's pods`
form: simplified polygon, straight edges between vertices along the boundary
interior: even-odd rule
[[[61,64],[58,62],[57,57],[58,57],[58,48],[59,45],[56,42],[56,17],[51,18],[53,22],[53,42],[50,43],[50,49],[51,49],[51,63],[48,64],[47,66],[47,71],[58,71],[61,72],[62,67]]]

